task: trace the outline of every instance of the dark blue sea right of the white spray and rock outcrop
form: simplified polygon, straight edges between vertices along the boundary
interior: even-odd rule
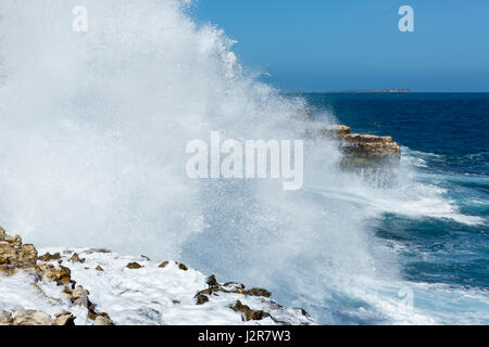
[[[403,279],[487,294],[489,93],[302,95],[316,120],[333,115],[354,132],[391,136],[415,180],[439,188],[456,209],[459,218],[419,206],[415,217],[386,211],[369,222],[377,237],[401,246]]]

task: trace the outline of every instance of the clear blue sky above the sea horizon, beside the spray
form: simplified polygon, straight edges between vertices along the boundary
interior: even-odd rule
[[[197,0],[190,13],[281,90],[489,92],[489,0]]]

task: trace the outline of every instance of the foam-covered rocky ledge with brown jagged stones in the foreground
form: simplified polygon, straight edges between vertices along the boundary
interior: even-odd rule
[[[181,262],[50,250],[38,256],[0,228],[0,325],[314,324],[266,290],[218,283]]]

